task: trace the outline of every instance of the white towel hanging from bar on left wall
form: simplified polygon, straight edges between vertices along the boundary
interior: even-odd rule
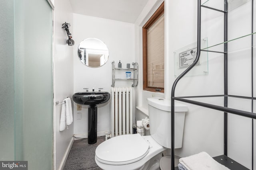
[[[72,105],[70,98],[66,98],[63,100],[63,104],[61,107],[60,113],[60,131],[64,131],[67,125],[70,125],[73,122],[72,115]]]

